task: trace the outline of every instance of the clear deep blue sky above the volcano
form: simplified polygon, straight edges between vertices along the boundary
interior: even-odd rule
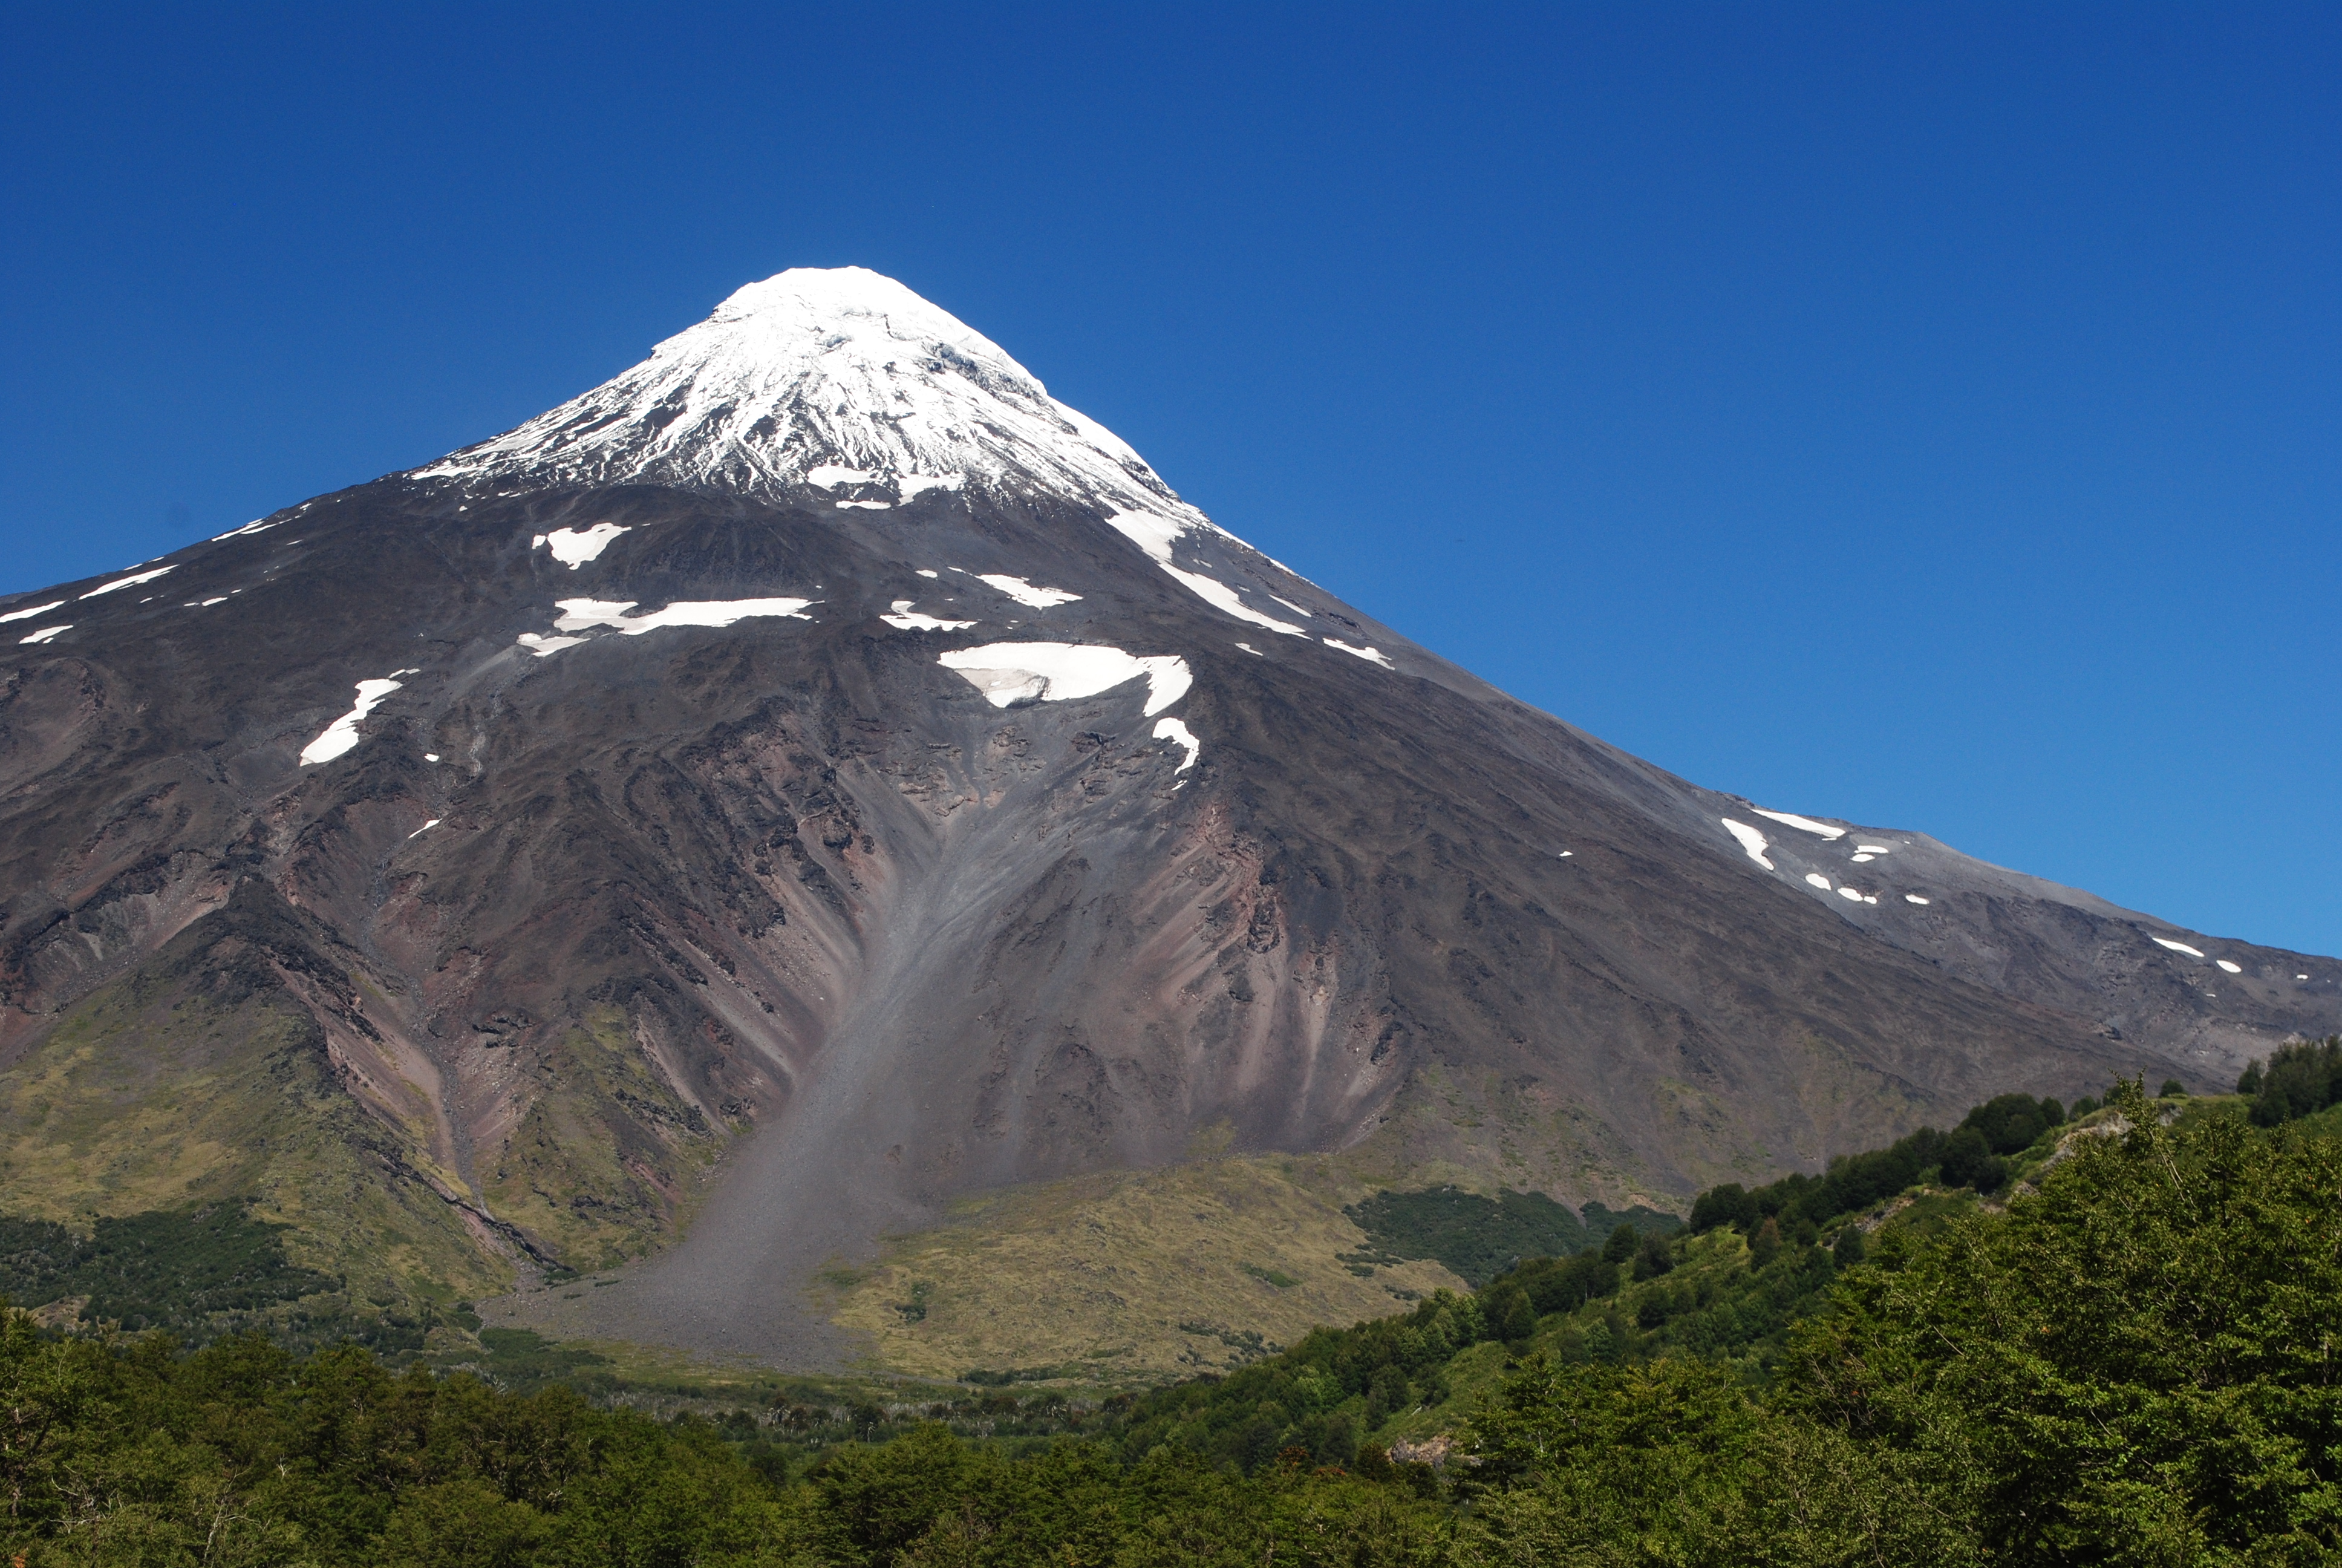
[[[1679,773],[2342,954],[2333,7],[674,9],[7,7],[0,588],[860,263]]]

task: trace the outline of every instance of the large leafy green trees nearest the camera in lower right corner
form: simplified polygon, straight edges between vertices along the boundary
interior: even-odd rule
[[[1845,1275],[1785,1409],[1960,1477],[2002,1561],[2330,1561],[2342,1153],[2115,1106],[2005,1216]]]

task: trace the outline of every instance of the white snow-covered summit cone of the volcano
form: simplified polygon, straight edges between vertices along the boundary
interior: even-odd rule
[[[974,485],[1201,520],[1000,345],[867,267],[749,284],[632,370],[415,478],[813,488],[843,506]]]

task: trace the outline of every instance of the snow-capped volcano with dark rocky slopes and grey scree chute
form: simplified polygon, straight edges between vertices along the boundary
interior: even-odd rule
[[[2342,1027],[2333,961],[1506,698],[869,274],[42,605],[0,607],[26,1207],[260,1181],[269,1116],[155,1127],[279,1092],[190,1041],[293,1031],[408,1193],[347,1247],[480,1277],[698,1214],[609,1291],[649,1338],[815,1355],[824,1256],[1204,1127],[1670,1200]]]

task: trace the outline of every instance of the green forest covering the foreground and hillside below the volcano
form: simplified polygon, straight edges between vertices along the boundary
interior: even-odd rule
[[[1564,1256],[1480,1247],[1468,1296],[1101,1402],[775,1395],[653,1416],[597,1395],[595,1357],[532,1336],[454,1371],[9,1313],[0,1554],[2330,1563],[2342,1111],[2333,1045],[2288,1050],[2244,1097],[2002,1097],[1820,1177],[1703,1193],[1677,1230],[1602,1216]],[[1569,1235],[1534,1202],[1480,1202],[1504,1245]],[[1468,1205],[1382,1209],[1377,1245],[1450,1245]],[[232,1266],[171,1263],[190,1289],[248,1308],[302,1284],[248,1221],[218,1226]],[[131,1233],[5,1242],[12,1280],[166,1317],[162,1263],[141,1263],[157,1247]]]

